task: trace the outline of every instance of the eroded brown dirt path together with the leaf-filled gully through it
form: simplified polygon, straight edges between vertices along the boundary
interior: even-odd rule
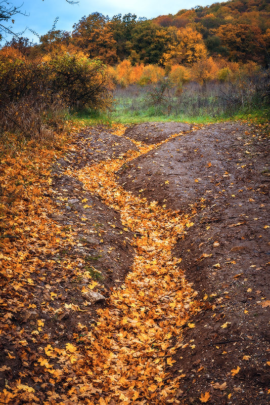
[[[16,325],[39,317],[44,335],[36,356],[13,347],[3,373],[20,383],[9,397],[3,378],[2,403],[268,403],[267,157],[239,123],[74,136],[51,194],[72,239],[53,263],[76,269],[40,269],[49,295]]]

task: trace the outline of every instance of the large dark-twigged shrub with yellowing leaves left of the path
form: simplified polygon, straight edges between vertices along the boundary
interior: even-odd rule
[[[0,126],[42,137],[60,125],[67,107],[108,107],[111,87],[107,67],[99,59],[62,53],[29,60],[17,51],[2,50]]]

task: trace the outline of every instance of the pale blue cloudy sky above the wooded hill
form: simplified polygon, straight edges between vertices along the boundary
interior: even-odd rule
[[[72,26],[81,17],[91,13],[99,12],[112,17],[116,14],[136,14],[137,17],[148,19],[163,14],[176,14],[182,9],[190,9],[196,6],[206,6],[218,2],[213,0],[79,0],[78,4],[68,4],[65,0],[10,0],[10,5],[22,6],[21,11],[26,16],[14,16],[12,29],[14,32],[22,32],[26,27],[31,28],[39,35],[47,33],[53,26],[56,17],[59,20],[56,29],[72,31]],[[33,42],[38,42],[38,38],[26,28],[24,37],[28,37]],[[11,38],[8,37],[8,40]]]

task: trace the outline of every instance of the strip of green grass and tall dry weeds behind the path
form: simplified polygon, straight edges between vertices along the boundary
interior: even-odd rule
[[[264,73],[268,77],[268,72]],[[268,77],[269,79],[269,77]],[[116,87],[114,102],[107,111],[84,109],[77,117],[86,123],[112,121],[136,124],[143,121],[185,121],[210,123],[244,119],[267,125],[270,116],[269,84],[258,88],[258,77],[246,82],[211,81],[205,85],[189,82],[181,92],[162,80],[147,86]]]

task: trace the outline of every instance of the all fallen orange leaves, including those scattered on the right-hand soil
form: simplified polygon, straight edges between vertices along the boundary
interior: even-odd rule
[[[88,138],[91,129],[86,130],[84,138],[74,134],[68,139],[59,139],[55,147],[28,142],[17,148],[11,143],[3,153],[0,150],[3,157],[0,168],[0,403],[154,405],[184,404],[185,400],[214,403],[213,391],[221,393],[220,403],[231,400],[232,393],[228,395],[227,383],[221,379],[220,383],[210,379],[211,385],[199,386],[201,389],[195,390],[195,397],[192,393],[188,398],[187,381],[192,381],[194,374],[185,371],[186,365],[181,362],[185,350],[199,347],[197,341],[205,334],[204,321],[201,335],[198,334],[198,317],[205,316],[207,309],[217,311],[215,303],[210,300],[208,303],[207,294],[193,290],[191,274],[187,280],[181,268],[187,260],[181,255],[182,261],[175,252],[177,244],[190,243],[183,237],[196,228],[191,218],[196,218],[200,207],[190,204],[189,211],[173,211],[168,209],[173,205],[168,205],[162,193],[158,204],[144,197],[144,185],[135,194],[124,188],[125,182],[121,185],[118,177],[119,170],[128,168],[137,158],[157,152],[158,149],[154,149],[166,142],[177,141],[173,138],[181,140],[188,132],[195,133],[198,129],[182,127],[176,131],[183,132],[173,135],[163,133],[162,129],[163,134],[158,133],[152,140],[146,138],[148,143],[144,143],[145,131],[141,138],[134,140],[126,136],[129,132],[125,132],[123,126],[115,126],[114,132],[108,134],[119,137],[119,144],[114,143],[115,148],[120,145],[117,153],[106,153],[105,147],[100,148],[97,141],[91,144]],[[103,143],[104,139],[101,137],[98,141]],[[126,146],[121,153],[124,142]],[[87,150],[91,152],[87,154]],[[89,155],[93,156],[91,164]],[[63,158],[64,166],[59,158]],[[138,165],[141,164],[143,166],[140,162]],[[52,169],[57,165],[61,166],[61,175]],[[138,169],[142,168],[138,166]],[[81,187],[75,194],[78,204],[68,207],[68,184],[67,189],[54,188],[54,177],[62,180],[65,177],[63,187],[71,180],[76,187]],[[130,176],[130,182],[134,181],[132,179]],[[196,178],[194,183],[199,184],[200,180]],[[171,183],[164,180],[166,187]],[[99,238],[102,247],[109,232],[100,227],[95,231],[90,229],[86,215],[81,217],[85,210],[96,212],[91,196],[96,198],[95,204],[99,199],[102,207],[107,206],[112,217],[119,213],[122,228],[119,222],[118,225],[108,222],[108,226],[112,229],[118,226],[121,245],[125,247],[126,240],[126,248],[132,244],[135,252],[131,268],[127,266],[129,272],[125,280],[113,287],[106,304],[99,306],[95,319],[90,319],[94,309],[86,297],[91,291],[102,291],[102,281],[93,279],[93,274],[86,270],[85,257],[78,251],[85,249],[87,230],[95,236],[89,242],[91,249],[95,247],[92,239]],[[70,217],[61,211],[64,206],[70,208]],[[99,205],[97,211],[101,210],[105,218],[102,207]],[[78,218],[84,231],[79,232],[69,221],[71,214]],[[65,226],[59,221],[64,221]],[[213,247],[218,246],[215,241]],[[203,253],[200,260],[210,256]],[[214,267],[220,267],[219,262]],[[265,300],[263,306],[268,305],[269,301]],[[217,318],[218,313],[213,317]],[[70,318],[72,327],[68,324]],[[221,323],[222,331],[231,325],[231,321]],[[206,351],[210,352],[209,346]],[[182,356],[179,357],[179,353]],[[192,360],[192,354],[190,357],[192,373],[202,371],[201,359]],[[245,353],[243,359],[249,357]],[[270,362],[266,365],[270,366]],[[182,368],[184,371],[180,370]],[[230,377],[237,379],[241,368],[234,363]],[[183,389],[187,391],[185,398]]]

